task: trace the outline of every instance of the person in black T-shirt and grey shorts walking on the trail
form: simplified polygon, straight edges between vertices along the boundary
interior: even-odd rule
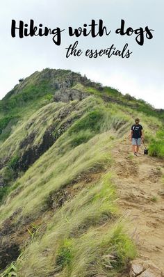
[[[139,124],[139,122],[140,122],[140,119],[136,118],[135,124],[133,124],[131,126],[131,135],[130,135],[133,153],[136,156],[138,156],[138,151],[139,151],[139,148],[140,148],[141,139],[142,139],[142,141],[144,140],[144,138],[143,138],[143,128],[142,128],[142,125]]]

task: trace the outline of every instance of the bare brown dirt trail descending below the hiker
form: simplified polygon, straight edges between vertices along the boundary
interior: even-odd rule
[[[143,260],[151,260],[164,272],[164,162],[143,155],[133,157],[128,139],[113,149],[118,205]]]

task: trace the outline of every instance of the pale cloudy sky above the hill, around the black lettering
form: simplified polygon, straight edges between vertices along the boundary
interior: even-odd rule
[[[3,98],[20,78],[26,78],[44,68],[69,69],[86,75],[103,86],[117,88],[123,94],[129,93],[142,98],[154,107],[164,109],[164,2],[163,0],[6,0],[1,1],[0,10],[0,99]],[[61,43],[56,45],[52,35],[47,37],[11,36],[11,22],[15,19],[24,24],[34,20],[35,26],[59,27]],[[102,19],[110,35],[92,38],[81,35],[69,36],[68,27],[73,29],[87,24],[88,31],[92,19],[98,24]],[[144,45],[136,42],[136,34],[131,36],[116,34],[121,19],[125,29],[133,30],[148,26],[153,29],[153,38],[145,38]],[[78,40],[81,56],[66,58],[67,47]],[[132,52],[129,58],[101,56],[88,58],[87,49],[107,49],[115,45],[122,50],[128,43]]]

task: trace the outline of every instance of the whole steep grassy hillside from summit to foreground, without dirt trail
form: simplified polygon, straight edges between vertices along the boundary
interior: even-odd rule
[[[115,166],[136,116],[162,178],[164,111],[142,100],[51,69],[35,72],[1,100],[1,276],[129,276],[140,247],[117,200],[116,176],[128,168],[124,161],[119,171]],[[130,145],[126,155],[131,166]],[[131,176],[135,164],[132,169]]]

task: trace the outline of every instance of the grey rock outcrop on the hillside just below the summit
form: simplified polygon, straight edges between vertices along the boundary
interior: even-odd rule
[[[80,90],[70,89],[70,88],[61,88],[60,90],[56,91],[54,95],[54,101],[56,102],[69,102],[72,100],[83,100],[84,98],[88,97],[89,93],[83,93]]]

